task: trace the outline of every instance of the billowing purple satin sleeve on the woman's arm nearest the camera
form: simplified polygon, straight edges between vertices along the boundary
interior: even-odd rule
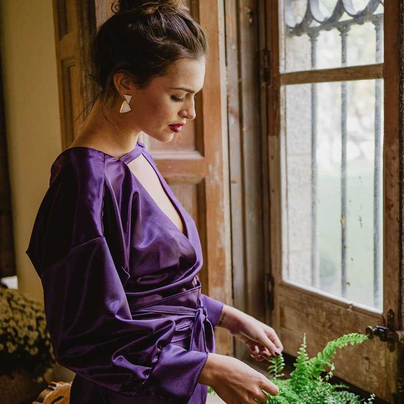
[[[97,158],[84,166],[54,163],[26,251],[42,282],[55,357],[118,393],[185,404],[208,352],[171,343],[171,319],[131,315],[128,274],[103,234],[104,165]]]

